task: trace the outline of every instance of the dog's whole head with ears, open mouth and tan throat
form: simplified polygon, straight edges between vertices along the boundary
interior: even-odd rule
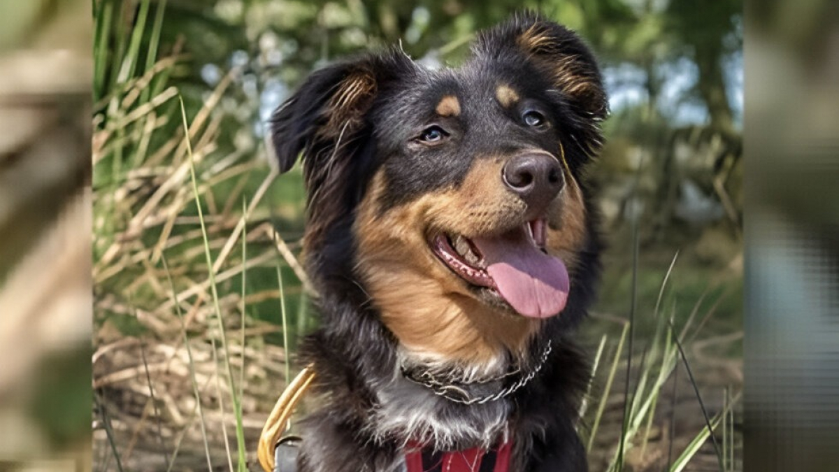
[[[409,353],[521,351],[575,291],[606,113],[586,46],[529,15],[460,69],[392,50],[315,72],[273,128],[281,170],[305,155],[310,268],[346,259]]]

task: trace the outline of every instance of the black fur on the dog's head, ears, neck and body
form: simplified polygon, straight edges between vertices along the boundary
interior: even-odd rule
[[[519,38],[528,32],[550,41],[523,50]],[[569,64],[569,76],[557,78],[560,61]],[[491,106],[486,98],[499,79],[527,97],[521,106],[545,113],[554,124],[550,132],[534,134],[517,125],[513,115],[518,108]],[[569,92],[565,79],[587,86]],[[336,106],[331,101],[347,81],[357,81],[362,92]],[[432,119],[435,104],[446,94],[463,101],[460,116],[445,118],[456,148],[406,145]],[[555,149],[561,141],[571,171],[582,182],[583,165],[601,144],[598,122],[607,114],[606,103],[586,45],[570,30],[525,13],[481,34],[472,59],[459,70],[427,71],[402,51],[387,50],[316,71],[277,110],[272,138],[280,170],[289,170],[298,155],[304,159],[309,225],[314,228],[306,234],[306,265],[320,293],[321,328],[305,339],[300,360],[315,364],[316,391],[324,403],[306,420],[301,472],[393,470],[404,442],[370,433],[376,392],[393,378],[399,344],[367,300],[355,271],[352,223],[373,174],[383,169],[387,176],[386,209],[457,186],[476,156],[523,146]],[[594,296],[600,242],[591,191],[585,185],[582,190],[588,235],[572,274],[575,290],[562,316],[546,321],[531,346],[536,356],[551,339],[554,350],[529,385],[502,400],[509,405],[515,472],[587,469],[575,427],[589,370],[572,333]],[[445,417],[458,422],[466,421],[468,409],[477,406],[451,403],[441,408]]]

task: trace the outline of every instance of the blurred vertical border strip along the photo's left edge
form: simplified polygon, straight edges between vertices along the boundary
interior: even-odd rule
[[[91,469],[91,3],[0,2],[0,470]]]

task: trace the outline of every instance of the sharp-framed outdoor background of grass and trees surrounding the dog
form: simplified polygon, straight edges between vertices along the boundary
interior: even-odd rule
[[[521,8],[589,42],[612,108],[591,167],[609,249],[580,335],[596,362],[591,469],[742,469],[734,0],[94,2],[96,469],[254,467],[317,323],[300,169],[268,165],[270,113],[310,71],[385,45],[456,66]]]

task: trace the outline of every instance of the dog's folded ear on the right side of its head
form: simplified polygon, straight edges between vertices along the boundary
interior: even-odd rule
[[[473,49],[490,60],[524,60],[560,92],[571,111],[587,153],[599,149],[602,137],[599,122],[608,114],[606,92],[591,50],[571,29],[540,18],[531,12],[519,13],[507,23],[480,35]]]

